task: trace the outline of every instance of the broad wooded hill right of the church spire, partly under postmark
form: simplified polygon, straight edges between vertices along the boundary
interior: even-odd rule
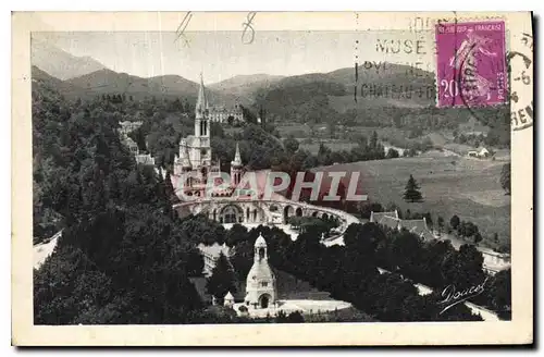
[[[246,98],[252,97],[254,110],[262,106],[269,119],[280,122],[319,123],[332,119],[338,122],[342,120],[338,114],[354,110],[424,108],[434,106],[435,101],[433,73],[393,63],[383,63],[380,70],[359,65],[357,82],[355,69],[346,67],[260,84],[254,81],[244,91]],[[357,101],[354,98],[356,84]]]

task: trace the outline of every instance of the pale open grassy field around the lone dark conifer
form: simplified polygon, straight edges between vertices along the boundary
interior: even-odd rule
[[[510,197],[504,195],[499,184],[500,170],[506,162],[430,152],[415,158],[337,164],[313,171],[358,171],[358,192],[367,193],[371,201],[384,206],[394,202],[403,211],[430,211],[433,221],[442,216],[449,222],[452,216],[457,214],[480,227],[484,245],[494,233],[502,242],[510,237]],[[403,200],[410,174],[421,186],[423,202],[408,204]]]

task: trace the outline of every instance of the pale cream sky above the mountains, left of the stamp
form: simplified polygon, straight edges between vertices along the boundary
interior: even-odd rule
[[[115,72],[141,77],[176,74],[207,84],[235,75],[267,73],[298,75],[326,73],[364,61],[393,63],[422,62],[432,70],[432,48],[424,44],[425,54],[384,53],[378,41],[416,40],[406,32],[58,32],[34,33],[74,56],[89,56]],[[419,35],[421,36],[421,35]],[[429,41],[428,41],[429,42]]]

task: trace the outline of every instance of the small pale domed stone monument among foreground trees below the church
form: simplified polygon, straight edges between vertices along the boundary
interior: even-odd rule
[[[268,308],[275,303],[275,276],[268,262],[267,241],[259,234],[255,242],[254,266],[247,275],[245,304]]]

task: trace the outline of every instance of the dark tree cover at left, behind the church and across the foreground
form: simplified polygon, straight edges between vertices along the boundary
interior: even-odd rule
[[[143,130],[149,132],[138,143],[168,161],[178,137],[191,131],[190,124],[182,125],[191,122],[187,111],[190,108],[181,101],[153,98],[66,101],[40,83],[33,84],[34,236],[64,230],[54,253],[34,271],[36,324],[250,322],[208,315],[190,278],[202,270],[199,243],[235,246],[233,264],[244,272],[256,232],[225,232],[201,217],[181,220],[172,210],[169,181],[154,168],[138,167],[116,132],[120,121],[143,119]],[[173,130],[168,118],[180,113],[184,119]],[[331,156],[325,149],[317,157],[305,155],[296,140],[270,135],[272,127],[248,125],[232,136],[221,127],[213,130],[218,135],[212,145],[222,162],[230,162],[237,140],[251,169],[287,165],[284,169],[292,172],[331,160],[323,159]],[[359,150],[367,159],[384,155],[374,137]],[[430,285],[474,283],[482,278],[481,255],[470,247],[456,253],[447,243],[428,247],[410,236],[384,238],[386,234],[366,224],[348,230],[345,247],[325,248],[318,242],[322,226],[326,225],[306,227],[296,242],[280,230],[260,227],[270,242],[272,264],[382,321],[479,319],[462,305],[440,315],[440,297],[419,296],[401,275],[420,279],[446,257],[447,263],[437,270],[444,272],[443,280],[431,274]],[[437,253],[426,256],[428,250]],[[394,273],[380,274],[379,264]],[[509,279],[507,273],[497,274],[489,292],[509,288],[498,281]],[[509,291],[502,293],[484,303],[507,306]]]

